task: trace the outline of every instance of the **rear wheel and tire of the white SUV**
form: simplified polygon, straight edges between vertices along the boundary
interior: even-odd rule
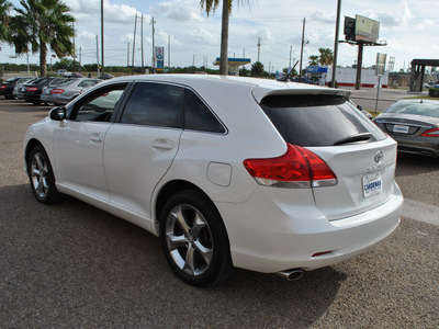
[[[221,215],[212,201],[198,191],[178,192],[166,202],[160,239],[172,270],[191,285],[218,284],[233,272]]]

